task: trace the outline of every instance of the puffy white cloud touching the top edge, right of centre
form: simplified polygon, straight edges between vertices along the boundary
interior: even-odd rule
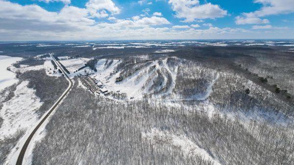
[[[205,3],[199,4],[199,0],[169,0],[172,10],[176,12],[177,18],[184,18],[185,22],[196,19],[215,19],[227,15],[227,11],[219,5]]]

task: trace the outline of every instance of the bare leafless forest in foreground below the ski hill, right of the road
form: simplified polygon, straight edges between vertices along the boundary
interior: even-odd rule
[[[56,125],[59,125],[56,127]],[[215,114],[147,102],[116,103],[77,86],[46,127],[33,164],[211,164],[152,129],[185,135],[221,164],[292,164],[293,125],[243,124]],[[66,158],[66,159],[65,159]]]

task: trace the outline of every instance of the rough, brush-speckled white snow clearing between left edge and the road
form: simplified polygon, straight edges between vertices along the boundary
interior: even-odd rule
[[[30,128],[38,120],[35,113],[43,103],[35,95],[35,90],[27,87],[28,82],[20,83],[14,92],[15,96],[3,103],[0,116],[3,124],[0,128],[0,139],[13,135],[19,129]]]

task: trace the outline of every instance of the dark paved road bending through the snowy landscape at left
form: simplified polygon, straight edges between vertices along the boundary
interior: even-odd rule
[[[52,57],[52,55],[50,55]],[[53,58],[53,57],[52,57]],[[35,127],[35,129],[32,131],[32,133],[29,135],[29,137],[26,139],[25,144],[17,158],[17,162],[16,165],[22,165],[23,164],[23,159],[25,156],[25,150],[29,144],[29,142],[31,141],[31,139],[33,138],[34,134],[37,132],[37,130],[40,128],[40,126],[45,122],[45,120],[49,117],[49,115],[51,114],[51,112],[56,108],[56,106],[62,101],[62,99],[66,96],[66,94],[69,93],[70,89],[73,87],[73,82],[72,80],[69,78],[69,76],[66,74],[66,72],[63,70],[63,68],[60,66],[60,64],[58,62],[56,62],[56,60],[53,58],[54,62],[56,63],[56,65],[58,65],[58,67],[62,70],[63,74],[66,76],[67,80],[70,82],[69,87],[67,88],[67,90],[63,93],[63,95],[57,100],[57,102],[51,107],[51,109],[49,109],[49,112],[47,113],[47,115],[41,120],[41,122]]]

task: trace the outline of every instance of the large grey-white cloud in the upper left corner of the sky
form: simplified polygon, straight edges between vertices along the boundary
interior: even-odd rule
[[[22,6],[0,0],[0,29],[74,31],[95,23],[94,20],[87,18],[88,15],[87,9],[74,6],[66,5],[56,13],[35,4]]]

